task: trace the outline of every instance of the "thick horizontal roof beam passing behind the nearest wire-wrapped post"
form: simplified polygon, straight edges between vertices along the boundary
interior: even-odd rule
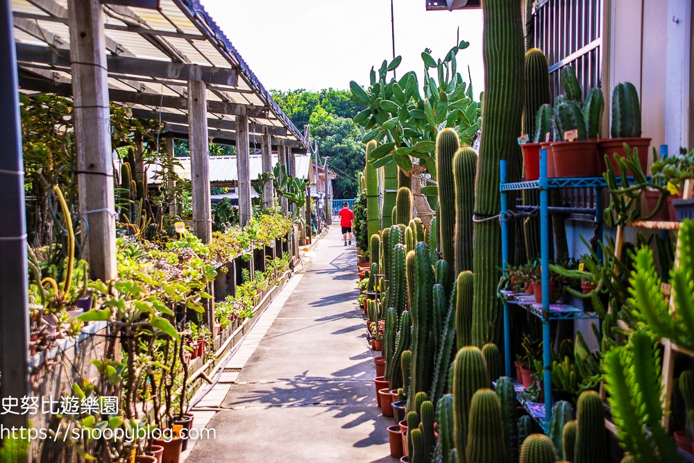
[[[15,24],[17,24],[17,22],[26,22],[28,28],[37,28],[37,26],[28,21],[28,19],[17,18],[15,19]],[[70,65],[69,50],[67,49],[50,49],[49,47],[20,43],[17,44],[17,61],[40,62],[57,66]],[[106,57],[106,62],[108,64],[108,71],[117,74],[172,78],[181,81],[203,81],[205,83],[228,85],[231,87],[235,87],[239,83],[237,70],[224,67],[189,65],[184,62],[147,60],[144,58],[117,55],[108,55]]]

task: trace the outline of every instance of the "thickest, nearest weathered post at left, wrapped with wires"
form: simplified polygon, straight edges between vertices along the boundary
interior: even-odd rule
[[[89,221],[85,258],[94,280],[112,280],[116,221],[108,103],[108,73],[99,0],[69,0],[70,58],[74,94],[80,212]]]

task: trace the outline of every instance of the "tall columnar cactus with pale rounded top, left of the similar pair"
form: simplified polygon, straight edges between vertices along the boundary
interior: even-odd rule
[[[444,237],[455,233],[455,180],[453,180],[453,156],[460,146],[457,131],[444,128],[436,137],[436,171],[439,180],[439,229]],[[474,201],[473,198],[470,201]],[[455,267],[453,240],[442,239],[441,258]]]

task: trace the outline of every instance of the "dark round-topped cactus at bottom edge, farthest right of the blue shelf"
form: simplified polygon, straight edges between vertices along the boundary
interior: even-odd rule
[[[578,398],[576,419],[578,427],[573,463],[604,462],[607,455],[604,405],[597,392],[582,392]]]

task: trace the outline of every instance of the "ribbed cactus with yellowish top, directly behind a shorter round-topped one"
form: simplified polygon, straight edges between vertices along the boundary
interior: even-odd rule
[[[453,423],[455,424],[455,448],[458,456],[465,454],[468,435],[468,416],[470,403],[477,389],[489,388],[489,374],[486,372],[484,356],[479,348],[466,346],[455,355],[452,377]]]

